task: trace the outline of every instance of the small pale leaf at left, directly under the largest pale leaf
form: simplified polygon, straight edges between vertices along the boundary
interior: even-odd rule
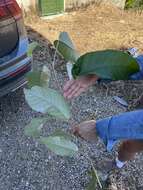
[[[34,118],[31,122],[25,127],[24,133],[26,136],[30,137],[39,137],[43,125],[46,122],[46,118]]]

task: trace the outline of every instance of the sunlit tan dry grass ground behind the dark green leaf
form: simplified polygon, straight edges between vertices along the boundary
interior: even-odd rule
[[[110,5],[91,5],[52,20],[29,17],[26,24],[53,42],[67,31],[77,49],[88,52],[107,48],[138,47],[143,50],[143,14]]]

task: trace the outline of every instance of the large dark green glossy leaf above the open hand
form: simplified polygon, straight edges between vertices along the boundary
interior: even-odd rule
[[[102,79],[126,80],[139,71],[139,65],[131,55],[117,50],[104,50],[81,56],[72,69],[74,78],[95,74]]]

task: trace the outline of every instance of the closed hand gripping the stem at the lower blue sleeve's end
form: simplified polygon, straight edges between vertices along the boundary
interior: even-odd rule
[[[74,135],[81,137],[88,141],[96,141],[96,122],[95,120],[85,121],[80,123],[77,126],[74,126],[72,129]]]

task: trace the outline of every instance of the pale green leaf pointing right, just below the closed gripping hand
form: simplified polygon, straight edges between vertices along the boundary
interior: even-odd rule
[[[40,142],[60,156],[74,156],[78,147],[73,142],[60,136],[41,137]]]

